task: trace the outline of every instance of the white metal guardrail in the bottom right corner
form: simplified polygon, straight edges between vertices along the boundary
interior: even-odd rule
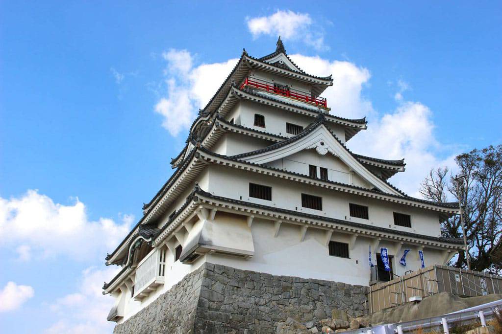
[[[449,334],[449,328],[468,324],[474,319],[479,319],[481,325],[486,326],[486,321],[489,321],[493,318],[493,313],[495,312],[496,308],[499,311],[502,311],[502,299],[470,308],[465,308],[453,313],[448,313],[440,316],[347,330],[344,332],[344,334],[403,334],[412,332],[419,328],[423,329],[424,331],[439,329],[443,330],[445,334]]]

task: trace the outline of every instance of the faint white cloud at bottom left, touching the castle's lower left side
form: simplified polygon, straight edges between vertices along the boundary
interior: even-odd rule
[[[58,298],[49,308],[59,320],[47,328],[47,334],[62,333],[109,333],[113,323],[106,320],[106,315],[113,306],[114,299],[103,296],[103,281],[108,281],[120,268],[90,267],[82,272],[82,280],[77,292]]]

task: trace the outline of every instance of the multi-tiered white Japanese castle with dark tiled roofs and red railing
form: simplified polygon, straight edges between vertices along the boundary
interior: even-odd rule
[[[462,248],[440,230],[457,203],[410,197],[388,181],[405,171],[403,159],[347,148],[367,122],[330,109],[322,93],[332,85],[331,75],[299,68],[280,38],[265,57],[242,52],[191,125],[174,173],[106,256],[121,267],[103,286],[115,298],[108,320],[119,327],[152,305],[162,317],[175,311],[159,308],[177,307],[188,318],[192,307],[266,332],[273,314],[301,305],[322,317],[329,289],[342,286],[343,298],[359,302],[361,286],[445,264]],[[301,284],[310,284],[304,299]],[[265,308],[250,313],[255,305]]]

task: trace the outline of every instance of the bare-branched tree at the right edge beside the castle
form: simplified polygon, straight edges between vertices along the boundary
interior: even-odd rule
[[[455,158],[459,167],[457,187],[447,168],[431,170],[421,184],[420,193],[435,202],[455,197],[462,203],[466,238],[473,270],[502,270],[502,145],[472,150]],[[443,235],[462,237],[460,217],[451,217],[441,224]],[[463,251],[457,267],[465,267]]]

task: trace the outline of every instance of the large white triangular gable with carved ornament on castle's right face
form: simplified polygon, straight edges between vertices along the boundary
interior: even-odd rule
[[[323,158],[316,159],[309,151],[315,152],[314,154],[323,156]],[[358,185],[368,189],[377,188],[385,193],[401,195],[399,191],[371,173],[350,154],[324,124],[320,124],[310,133],[287,145],[277,145],[275,149],[262,150],[254,155],[243,157],[242,160],[306,175],[308,175],[308,169],[305,171],[305,168],[312,164],[309,161],[323,161],[326,163],[325,168],[333,167],[332,176],[328,174],[332,181]]]

